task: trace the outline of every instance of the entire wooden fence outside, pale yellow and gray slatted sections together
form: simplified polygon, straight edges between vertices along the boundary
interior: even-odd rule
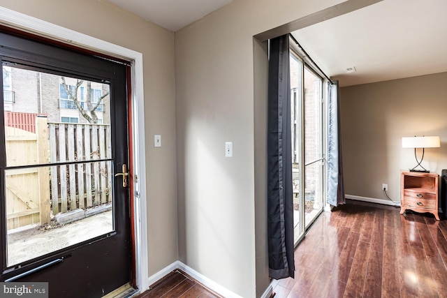
[[[8,230],[112,200],[112,163],[97,161],[111,157],[110,126],[35,119],[36,133],[6,126],[8,166],[68,164],[6,170]]]

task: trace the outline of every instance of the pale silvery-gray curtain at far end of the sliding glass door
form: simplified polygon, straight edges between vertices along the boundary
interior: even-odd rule
[[[326,201],[332,206],[337,206],[346,203],[343,184],[338,81],[329,85],[328,99],[328,191]]]

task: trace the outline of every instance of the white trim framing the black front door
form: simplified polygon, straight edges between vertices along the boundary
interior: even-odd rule
[[[135,242],[136,242],[136,284],[142,291],[149,288],[147,280],[147,209],[146,209],[146,174],[145,174],[145,114],[144,85],[142,71],[142,54],[126,47],[114,45],[107,41],[93,38],[85,34],[51,24],[35,17],[17,13],[14,10],[0,6],[0,24],[23,31],[36,33],[40,36],[61,40],[78,47],[87,48],[110,56],[126,59],[132,64],[132,104],[133,104],[133,154],[135,181]],[[136,179],[135,179],[136,180]],[[138,200],[140,199],[140,200]]]

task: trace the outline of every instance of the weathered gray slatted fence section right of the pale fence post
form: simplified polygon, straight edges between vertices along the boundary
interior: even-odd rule
[[[112,189],[110,126],[48,124],[50,163],[84,163],[50,167],[52,213],[110,202]],[[96,161],[96,162],[95,162]]]

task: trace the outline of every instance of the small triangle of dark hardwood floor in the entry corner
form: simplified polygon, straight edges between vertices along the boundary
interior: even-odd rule
[[[207,290],[188,274],[175,270],[163,277],[161,281],[151,285],[150,290],[137,298],[219,298],[221,296]]]

